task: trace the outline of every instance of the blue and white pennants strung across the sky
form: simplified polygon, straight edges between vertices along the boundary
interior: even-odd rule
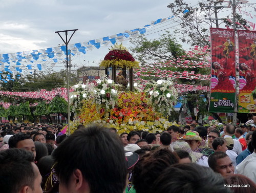
[[[183,14],[189,12],[184,10]],[[0,54],[0,74],[3,72],[9,72],[14,76],[2,76],[0,80],[5,82],[14,80],[15,75],[18,74],[32,74],[33,68],[41,71],[47,67],[46,61],[52,63],[52,66],[57,62],[63,61],[66,55],[80,55],[86,54],[86,51],[93,50],[94,48],[99,49],[101,46],[108,46],[109,44],[114,45],[117,41],[123,41],[125,38],[137,37],[139,34],[144,34],[147,29],[154,27],[166,20],[173,19],[175,16],[159,18],[153,21],[150,25],[145,25],[142,28],[136,28],[134,30],[126,30],[123,33],[118,33],[111,36],[102,37],[99,39],[93,39],[90,41],[78,42],[76,44],[68,45],[68,53],[66,53],[66,46],[57,46],[53,48]]]

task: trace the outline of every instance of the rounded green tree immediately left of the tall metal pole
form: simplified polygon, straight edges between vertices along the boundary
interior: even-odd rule
[[[68,114],[68,102],[59,95],[56,95],[49,103],[49,113],[57,113],[59,122],[60,113],[63,115],[66,114],[66,116]]]

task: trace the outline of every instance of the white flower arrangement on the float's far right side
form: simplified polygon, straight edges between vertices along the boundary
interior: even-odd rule
[[[161,115],[170,115],[170,111],[177,101],[177,90],[172,86],[171,79],[158,80],[155,83],[148,83],[144,91],[150,96],[150,102],[155,111]]]

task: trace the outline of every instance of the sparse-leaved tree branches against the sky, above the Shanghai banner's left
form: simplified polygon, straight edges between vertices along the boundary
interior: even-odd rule
[[[191,7],[185,0],[174,0],[173,3],[170,3],[167,8],[170,8],[170,11],[178,17],[175,22],[179,23],[180,26],[178,29],[181,33],[182,42],[186,42],[187,44],[191,44],[191,46],[210,46],[209,42],[209,28],[216,27],[219,28],[216,24],[216,18],[218,16],[218,12],[223,8],[222,6],[224,1],[198,1],[198,7]],[[204,7],[208,6],[208,7]],[[209,6],[218,6],[217,8],[210,8]],[[231,10],[231,8],[228,8]],[[184,13],[184,10],[189,10],[189,12]],[[215,15],[216,13],[216,15]],[[228,17],[228,16],[226,16]],[[206,20],[205,18],[210,18],[210,20]],[[227,18],[228,19],[228,18]],[[242,17],[236,17],[237,22],[241,23],[245,26],[246,22]],[[225,19],[224,19],[225,20]],[[217,20],[218,21],[218,20]],[[226,22],[225,22],[226,23]],[[232,24],[227,24],[230,26]]]

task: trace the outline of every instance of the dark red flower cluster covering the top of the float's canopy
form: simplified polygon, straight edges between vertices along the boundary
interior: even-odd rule
[[[105,55],[104,60],[114,60],[122,59],[126,61],[135,61],[132,54],[126,50],[111,50],[108,54]]]

